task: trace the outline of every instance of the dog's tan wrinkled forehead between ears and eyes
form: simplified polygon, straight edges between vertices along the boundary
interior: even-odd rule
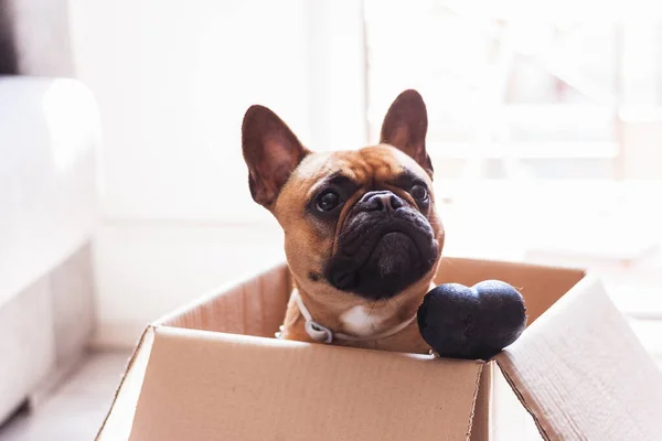
[[[331,175],[343,175],[361,185],[392,181],[403,173],[415,174],[430,184],[428,174],[407,154],[389,146],[366,147],[353,151],[312,154],[296,170],[296,180],[306,182],[309,192]]]

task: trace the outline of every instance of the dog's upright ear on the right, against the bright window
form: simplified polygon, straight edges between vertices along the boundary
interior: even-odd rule
[[[430,157],[425,150],[427,109],[420,94],[414,89],[403,92],[388,108],[382,123],[381,143],[391,144],[409,157],[433,176]]]

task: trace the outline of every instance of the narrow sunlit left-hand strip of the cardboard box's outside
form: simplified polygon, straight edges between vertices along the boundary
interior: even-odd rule
[[[96,441],[120,441],[128,440],[131,432],[131,423],[136,413],[138,396],[145,378],[149,353],[154,340],[152,326],[148,326],[134,355],[129,361],[125,375],[115,392],[110,410],[96,435]]]

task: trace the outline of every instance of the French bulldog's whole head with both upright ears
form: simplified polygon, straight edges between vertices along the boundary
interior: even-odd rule
[[[280,223],[300,289],[327,301],[425,293],[444,246],[427,123],[423,98],[406,90],[388,109],[378,146],[313,153],[271,110],[247,110],[250,193]]]

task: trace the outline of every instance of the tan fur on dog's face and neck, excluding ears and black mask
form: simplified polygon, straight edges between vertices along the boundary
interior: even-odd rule
[[[380,144],[356,151],[311,153],[295,170],[274,206],[273,213],[285,232],[285,251],[297,290],[314,320],[334,332],[349,333],[341,318],[343,313],[356,305],[362,305],[372,311],[371,314],[383,318],[382,329],[376,333],[389,330],[410,319],[416,314],[424,295],[430,289],[438,261],[423,279],[389,300],[373,302],[339,291],[323,280],[313,282],[308,275],[323,271],[324,263],[335,250],[338,230],[328,232],[323,229],[323,226],[312,223],[306,216],[306,203],[322,178],[342,170],[345,174],[361,182],[364,187],[363,191],[357,191],[354,200],[351,200],[343,207],[338,229],[342,227],[346,213],[353,203],[369,187],[371,190],[391,190],[415,206],[415,202],[407,192],[389,185],[389,181],[402,172],[403,166],[414,171],[431,189],[431,180],[427,172],[407,154],[391,146]],[[430,195],[430,209],[427,218],[433,225],[435,238],[438,241],[439,249],[441,249],[445,236],[444,227],[435,211],[434,195]],[[303,324],[305,320],[299,309],[290,301],[284,322],[282,337],[311,341],[303,329]],[[427,353],[429,351],[418,333],[416,321],[396,335],[381,341],[337,341],[334,343],[399,352]]]

